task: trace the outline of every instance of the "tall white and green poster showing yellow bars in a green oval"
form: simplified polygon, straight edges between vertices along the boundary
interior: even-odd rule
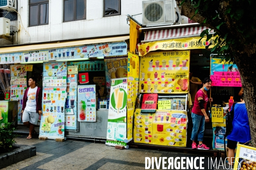
[[[127,78],[112,79],[108,109],[107,140],[124,142],[127,133]]]

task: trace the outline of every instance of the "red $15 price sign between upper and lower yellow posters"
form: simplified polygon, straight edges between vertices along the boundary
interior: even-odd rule
[[[144,94],[141,106],[141,112],[143,113],[155,113],[157,109],[157,94]]]

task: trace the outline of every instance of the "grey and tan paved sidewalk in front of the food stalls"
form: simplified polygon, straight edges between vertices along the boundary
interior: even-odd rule
[[[144,170],[145,157],[157,157],[158,159],[163,156],[174,159],[175,157],[205,156],[204,169],[210,169],[207,162],[209,156],[177,153],[172,150],[157,148],[118,150],[105,143],[82,140],[55,142],[55,140],[42,141],[38,138],[28,140],[26,136],[18,136],[15,141],[17,144],[36,146],[37,155],[2,170]],[[156,169],[156,166],[154,168]]]

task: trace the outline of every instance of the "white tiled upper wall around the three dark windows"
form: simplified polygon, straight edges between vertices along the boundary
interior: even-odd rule
[[[142,13],[142,0],[121,0],[121,15],[103,17],[103,0],[87,0],[87,20],[63,23],[63,0],[49,0],[49,25],[28,27],[28,3],[29,0],[18,0],[21,20],[18,17],[18,21],[11,22],[12,25],[20,27],[17,44],[129,34],[127,14]],[[141,14],[134,18],[142,22]],[[12,30],[17,28],[12,27]],[[0,45],[10,43],[0,40]]]

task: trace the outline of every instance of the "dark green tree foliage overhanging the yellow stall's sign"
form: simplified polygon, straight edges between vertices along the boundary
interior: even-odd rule
[[[217,52],[218,56],[223,56],[225,61],[234,62],[232,56],[236,51],[232,50],[230,46],[236,49],[255,43],[255,36],[253,36],[256,28],[255,0],[183,0],[180,5],[189,1],[191,7],[195,9],[195,14],[192,17],[201,15],[205,18],[201,25],[213,26],[212,23],[214,23],[215,34],[209,34],[209,29],[206,29],[200,37],[207,37],[209,40],[212,36],[218,36],[211,51]],[[222,8],[223,6],[224,8]]]

